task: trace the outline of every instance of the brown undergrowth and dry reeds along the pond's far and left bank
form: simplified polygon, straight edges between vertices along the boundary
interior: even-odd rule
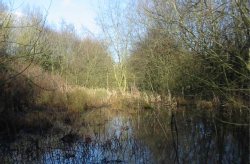
[[[109,107],[122,110],[175,110],[180,106],[195,105],[197,109],[247,109],[247,102],[219,99],[211,101],[184,97],[162,97],[158,94],[107,89],[90,89],[69,85],[58,75],[32,64],[21,75],[26,64],[9,65],[1,70],[0,135],[15,139],[18,133],[46,134],[62,125],[77,129],[82,126],[82,114],[96,108]],[[11,71],[10,71],[11,70]],[[63,128],[62,128],[63,129]],[[62,130],[61,129],[61,130]]]

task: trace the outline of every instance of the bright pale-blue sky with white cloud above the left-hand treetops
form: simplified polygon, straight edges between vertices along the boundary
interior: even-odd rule
[[[62,20],[76,27],[78,34],[89,30],[93,34],[100,33],[96,23],[100,0],[3,0],[12,3],[14,12],[22,15],[25,7],[39,7],[42,11],[49,8],[47,22],[58,28]]]

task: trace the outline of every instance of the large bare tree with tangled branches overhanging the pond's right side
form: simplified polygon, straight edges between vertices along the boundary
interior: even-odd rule
[[[247,94],[249,2],[152,0],[144,6],[150,19],[200,60],[203,75],[197,81],[222,95]]]

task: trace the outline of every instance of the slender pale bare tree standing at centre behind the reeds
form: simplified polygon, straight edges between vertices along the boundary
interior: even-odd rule
[[[130,54],[135,32],[132,22],[134,13],[132,1],[109,1],[104,6],[106,9],[100,13],[98,22],[116,61],[113,69],[117,86],[120,91],[125,91],[128,86],[126,60]]]

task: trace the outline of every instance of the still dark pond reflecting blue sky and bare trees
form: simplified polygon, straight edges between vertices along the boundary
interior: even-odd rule
[[[247,116],[248,117],[248,116]],[[248,118],[192,109],[83,115],[75,135],[20,136],[1,163],[249,163]],[[56,133],[56,132],[55,132]]]

